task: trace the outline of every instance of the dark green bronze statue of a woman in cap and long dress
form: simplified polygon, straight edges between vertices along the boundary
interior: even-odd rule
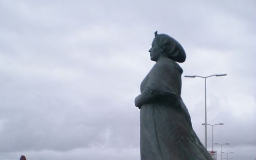
[[[141,160],[212,159],[196,136],[181,94],[186,53],[174,38],[155,32],[150,59],[155,65],[140,84],[135,98],[140,109]]]

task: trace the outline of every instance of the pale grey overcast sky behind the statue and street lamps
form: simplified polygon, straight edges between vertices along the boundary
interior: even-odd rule
[[[158,30],[186,51],[183,76],[227,74],[207,79],[207,123],[254,160],[255,16],[253,0],[0,0],[0,159],[140,159],[134,98]],[[204,144],[204,79],[182,77],[181,96]]]

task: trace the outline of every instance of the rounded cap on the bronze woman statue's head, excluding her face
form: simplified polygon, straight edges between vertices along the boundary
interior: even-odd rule
[[[180,63],[186,60],[186,52],[177,40],[167,34],[158,34],[158,31],[155,31],[154,34],[155,38],[153,41],[157,42],[162,52],[166,54],[169,59]]]

